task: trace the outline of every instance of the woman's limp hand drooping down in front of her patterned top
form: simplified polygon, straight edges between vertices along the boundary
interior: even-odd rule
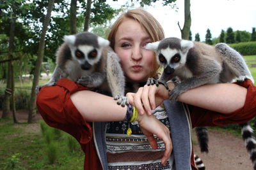
[[[162,122],[160,122],[154,115],[148,116],[140,115],[138,116],[138,123],[140,129],[147,136],[148,142],[153,149],[157,149],[157,141],[154,138],[154,134],[157,138],[161,139],[165,145],[165,151],[161,163],[166,164],[166,161],[170,158],[172,153],[172,140],[170,138],[170,131]]]

